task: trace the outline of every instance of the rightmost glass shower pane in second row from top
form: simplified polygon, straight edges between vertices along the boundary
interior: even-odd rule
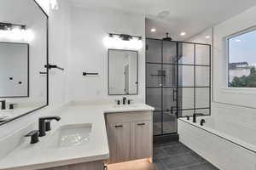
[[[195,86],[210,87],[210,67],[195,66]]]

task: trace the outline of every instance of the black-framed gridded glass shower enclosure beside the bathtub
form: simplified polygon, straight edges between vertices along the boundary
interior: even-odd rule
[[[211,45],[146,39],[146,103],[154,135],[177,133],[177,117],[211,114]]]

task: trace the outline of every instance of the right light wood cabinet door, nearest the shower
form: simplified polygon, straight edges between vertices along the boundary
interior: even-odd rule
[[[152,157],[152,144],[152,122],[131,122],[131,159]]]

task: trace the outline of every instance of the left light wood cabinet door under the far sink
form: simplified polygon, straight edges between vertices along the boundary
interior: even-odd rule
[[[130,160],[130,122],[108,124],[110,158],[108,163]]]

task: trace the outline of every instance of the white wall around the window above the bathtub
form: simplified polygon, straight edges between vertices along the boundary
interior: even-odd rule
[[[227,55],[225,37],[252,26],[256,26],[256,6],[214,26],[213,37],[213,103],[212,114],[240,126],[241,139],[251,132],[243,129],[256,129],[256,88],[227,88]],[[252,134],[251,134],[252,135]]]

